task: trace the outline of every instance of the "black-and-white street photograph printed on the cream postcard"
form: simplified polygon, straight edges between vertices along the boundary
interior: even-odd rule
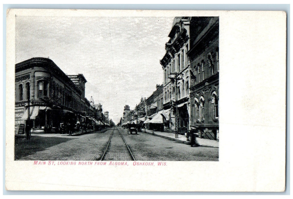
[[[15,160],[219,161],[219,17],[15,17]]]

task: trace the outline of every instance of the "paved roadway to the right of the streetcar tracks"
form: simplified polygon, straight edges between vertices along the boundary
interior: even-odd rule
[[[118,127],[136,160],[142,161],[219,161],[219,148],[191,147],[143,132],[128,135]]]

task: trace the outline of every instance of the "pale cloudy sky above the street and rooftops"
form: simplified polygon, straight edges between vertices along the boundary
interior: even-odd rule
[[[115,123],[163,83],[159,60],[173,17],[16,17],[16,63],[49,57],[66,74],[84,74]]]

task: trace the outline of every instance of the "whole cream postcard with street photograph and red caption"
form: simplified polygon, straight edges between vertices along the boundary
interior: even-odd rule
[[[9,9],[6,38],[7,190],[285,190],[285,12]]]

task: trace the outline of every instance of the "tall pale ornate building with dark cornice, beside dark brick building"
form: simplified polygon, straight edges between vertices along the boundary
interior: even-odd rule
[[[166,54],[160,63],[163,68],[163,108],[170,111],[169,128],[184,131],[189,126],[190,18],[175,17],[165,44]],[[177,111],[176,111],[177,110]]]

